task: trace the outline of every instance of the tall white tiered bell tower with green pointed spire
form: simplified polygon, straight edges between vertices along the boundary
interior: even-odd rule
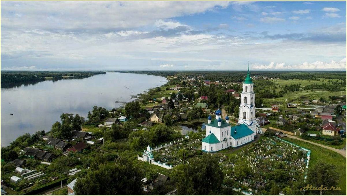
[[[248,73],[243,83],[243,90],[241,93],[240,114],[238,123],[245,124],[249,129],[255,132],[256,120],[255,120],[255,93],[253,91],[253,81],[249,75],[249,61],[248,61]]]

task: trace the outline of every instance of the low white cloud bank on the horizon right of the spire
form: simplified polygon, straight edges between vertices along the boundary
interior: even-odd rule
[[[271,62],[269,65],[253,64],[252,69],[255,70],[346,70],[346,58],[339,62],[332,60],[331,62],[316,61],[313,63],[304,62],[298,65],[285,65],[285,63]]]

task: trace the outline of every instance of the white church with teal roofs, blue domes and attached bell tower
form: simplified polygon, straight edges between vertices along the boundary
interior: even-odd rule
[[[206,137],[202,139],[202,150],[204,152],[217,152],[229,146],[237,147],[254,140],[258,128],[255,120],[254,89],[253,81],[248,73],[243,83],[241,93],[240,115],[238,124],[231,126],[229,117],[221,119],[222,112],[215,112],[216,118],[208,117],[206,124]]]

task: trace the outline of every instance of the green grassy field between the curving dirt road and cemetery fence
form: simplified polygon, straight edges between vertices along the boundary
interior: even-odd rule
[[[337,187],[341,187],[341,193],[346,195],[346,158],[336,152],[309,144],[304,141],[299,141],[287,137],[284,139],[311,150],[309,167],[312,167],[318,161],[323,161],[335,165],[340,174],[340,179],[338,181]]]

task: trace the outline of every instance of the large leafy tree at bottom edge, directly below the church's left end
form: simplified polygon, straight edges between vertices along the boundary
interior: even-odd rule
[[[217,157],[204,154],[190,162],[176,166],[172,173],[178,195],[218,195],[224,175]]]

